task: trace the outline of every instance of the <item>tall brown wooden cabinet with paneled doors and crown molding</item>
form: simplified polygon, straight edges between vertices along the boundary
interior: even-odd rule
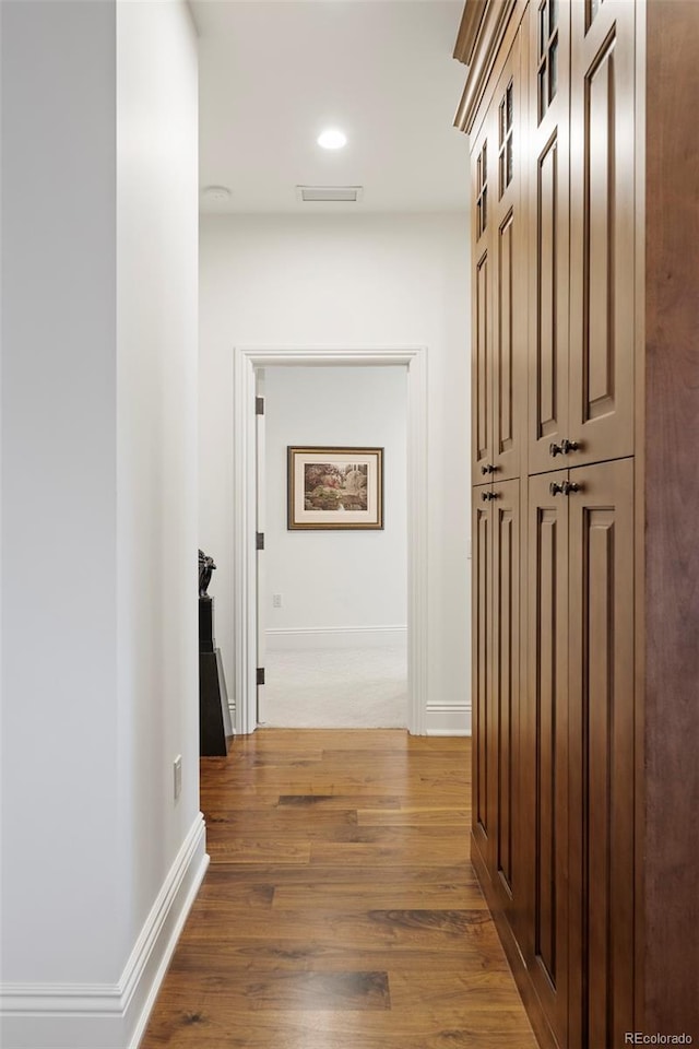
[[[454,54],[473,861],[542,1046],[697,1045],[699,0],[466,0]]]

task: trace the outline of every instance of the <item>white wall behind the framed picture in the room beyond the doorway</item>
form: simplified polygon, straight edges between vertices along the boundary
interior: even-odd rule
[[[406,382],[401,366],[264,369],[263,600],[271,647],[285,639],[312,646],[323,630],[340,641],[347,629],[405,629]],[[289,445],[383,448],[383,529],[289,531]],[[279,609],[273,593],[282,596]]]

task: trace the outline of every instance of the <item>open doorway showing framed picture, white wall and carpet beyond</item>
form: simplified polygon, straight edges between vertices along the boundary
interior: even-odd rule
[[[264,405],[258,722],[406,728],[407,369],[266,367],[257,375]],[[293,472],[310,484],[297,492],[295,509],[317,504],[315,527],[288,519],[289,448]],[[364,464],[356,461],[363,451]],[[308,458],[317,461],[295,469]],[[368,527],[354,520],[365,506]]]

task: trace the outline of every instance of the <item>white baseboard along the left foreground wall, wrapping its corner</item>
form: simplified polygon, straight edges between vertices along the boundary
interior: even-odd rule
[[[199,813],[118,983],[0,986],[2,1049],[138,1049],[208,865]]]

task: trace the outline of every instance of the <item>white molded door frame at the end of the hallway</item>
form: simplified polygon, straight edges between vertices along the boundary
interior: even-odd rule
[[[427,347],[234,346],[233,550],[235,731],[257,728],[256,369],[404,365],[407,368],[407,730],[427,711]]]

